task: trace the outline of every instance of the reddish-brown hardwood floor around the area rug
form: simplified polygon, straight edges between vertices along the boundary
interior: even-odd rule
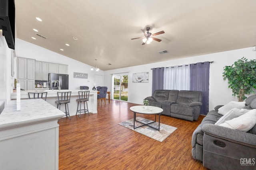
[[[118,125],[133,118],[131,104],[111,100],[98,113],[59,120],[60,170],[206,170],[191,154],[198,121],[161,115],[160,122],[177,127],[162,143]],[[140,117],[153,119],[154,115]]]

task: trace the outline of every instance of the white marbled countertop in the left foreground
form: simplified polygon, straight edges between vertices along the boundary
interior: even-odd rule
[[[12,100],[0,114],[0,128],[58,119],[64,115],[65,113],[42,99],[21,100],[21,110],[16,111],[16,100]]]

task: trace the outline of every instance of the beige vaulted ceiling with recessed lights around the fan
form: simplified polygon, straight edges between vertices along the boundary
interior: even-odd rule
[[[15,0],[15,5],[17,38],[101,70],[256,45],[256,0]],[[148,26],[151,33],[165,31],[154,36],[162,41],[131,40],[143,37],[140,29]],[[168,53],[158,53],[163,50]]]

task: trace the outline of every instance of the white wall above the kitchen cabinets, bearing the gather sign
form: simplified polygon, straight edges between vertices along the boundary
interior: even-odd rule
[[[69,90],[80,89],[80,86],[89,86],[92,90],[94,86],[94,74],[103,75],[103,71],[95,72],[90,70],[92,66],[81,63],[64,55],[60,55],[48,49],[44,49],[32,43],[28,43],[21,39],[16,41],[16,56],[36,59],[37,61],[45,61],[50,63],[66,64],[68,65],[69,74]],[[74,78],[74,72],[82,72],[88,74],[88,79]]]

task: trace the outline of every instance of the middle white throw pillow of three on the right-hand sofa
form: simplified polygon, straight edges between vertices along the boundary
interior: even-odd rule
[[[215,125],[220,125],[222,123],[224,123],[225,121],[234,119],[240,115],[243,115],[244,113],[247,113],[248,109],[231,109],[230,111],[228,111],[228,113],[226,113],[224,116],[220,117],[220,119],[215,123]]]

